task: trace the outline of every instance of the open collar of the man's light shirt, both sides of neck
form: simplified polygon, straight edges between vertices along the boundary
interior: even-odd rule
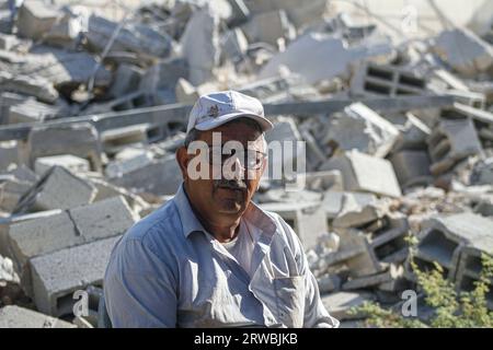
[[[176,205],[180,219],[182,221],[183,234],[185,235],[185,238],[187,238],[192,232],[200,231],[207,233],[207,230],[205,230],[198,221],[192,206],[190,205],[183,183],[176,191],[173,201]],[[276,231],[276,223],[274,219],[272,219],[254,202],[250,202],[250,206],[244,212],[242,219],[246,220],[246,222],[251,225],[257,228],[263,234],[273,235]]]

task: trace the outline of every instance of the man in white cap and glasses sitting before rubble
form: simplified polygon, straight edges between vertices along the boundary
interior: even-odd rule
[[[199,97],[176,151],[182,186],[112,253],[104,292],[113,326],[339,326],[294,231],[251,201],[271,128],[255,98]]]

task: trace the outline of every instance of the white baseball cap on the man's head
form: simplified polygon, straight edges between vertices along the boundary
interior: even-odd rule
[[[220,91],[202,95],[188,117],[186,132],[193,128],[206,131],[238,118],[250,118],[259,122],[263,131],[273,125],[265,118],[262,103],[237,91]]]

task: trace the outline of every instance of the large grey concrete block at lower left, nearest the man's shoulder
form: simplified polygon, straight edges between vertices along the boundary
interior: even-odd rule
[[[72,293],[102,285],[111,252],[119,240],[111,237],[61,249],[31,260],[36,307],[49,315],[70,315]]]

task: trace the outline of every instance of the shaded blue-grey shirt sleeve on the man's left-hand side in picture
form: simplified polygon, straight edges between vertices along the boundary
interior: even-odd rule
[[[104,279],[106,308],[115,328],[176,327],[176,281],[139,240],[115,248]]]

